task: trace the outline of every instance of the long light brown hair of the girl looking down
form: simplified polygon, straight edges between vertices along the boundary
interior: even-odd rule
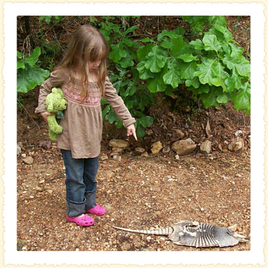
[[[81,80],[81,94],[82,100],[88,97],[88,61],[95,62],[100,60],[100,65],[96,70],[98,77],[98,86],[104,95],[105,91],[105,77],[107,76],[106,59],[108,56],[108,44],[103,34],[98,29],[90,25],[81,25],[73,34],[66,54],[62,62],[59,63],[57,69],[68,69],[71,77],[78,75]]]

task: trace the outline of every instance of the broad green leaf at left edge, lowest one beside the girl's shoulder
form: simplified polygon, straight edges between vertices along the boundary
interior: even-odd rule
[[[29,66],[25,64],[25,69],[21,69],[17,76],[17,91],[27,93],[36,85],[41,85],[44,79],[49,77],[49,71],[39,66]]]

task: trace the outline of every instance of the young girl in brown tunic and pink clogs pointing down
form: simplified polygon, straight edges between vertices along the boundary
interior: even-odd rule
[[[66,167],[66,219],[80,226],[91,226],[94,219],[86,213],[104,215],[105,208],[96,204],[98,155],[103,122],[100,99],[103,96],[123,122],[126,134],[135,134],[135,119],[126,109],[107,77],[108,46],[94,27],[78,27],[62,62],[40,87],[36,113],[47,122],[46,96],[52,88],[62,88],[67,100],[62,134],[57,146],[61,149]]]

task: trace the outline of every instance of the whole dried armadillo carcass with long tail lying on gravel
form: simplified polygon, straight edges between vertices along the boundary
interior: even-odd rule
[[[173,243],[192,247],[228,247],[249,240],[248,237],[235,232],[233,226],[225,228],[191,221],[182,221],[171,227],[155,230],[133,230],[116,226],[113,228],[146,235],[168,235],[168,239]]]

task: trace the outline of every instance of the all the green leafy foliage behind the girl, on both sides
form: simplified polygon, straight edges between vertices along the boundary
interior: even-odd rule
[[[59,25],[65,18],[41,16],[39,21]],[[109,78],[136,118],[139,138],[153,123],[148,107],[154,105],[159,92],[170,96],[186,88],[206,108],[231,100],[235,109],[250,112],[250,62],[233,40],[224,16],[183,16],[190,31],[164,29],[155,37],[144,35],[142,39],[135,34],[135,18],[90,16],[90,23],[109,42]],[[29,92],[49,77],[49,71],[38,62],[41,53],[42,67],[51,70],[62,51],[58,42],[46,42],[43,30],[40,28],[41,38],[31,55],[17,53],[17,92]],[[109,103],[103,100],[102,105],[103,118],[122,126]]]

